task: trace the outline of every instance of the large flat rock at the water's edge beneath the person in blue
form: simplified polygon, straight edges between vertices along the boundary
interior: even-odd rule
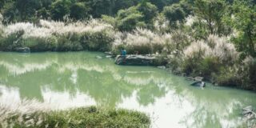
[[[154,66],[155,57],[150,55],[118,55],[115,63],[126,66]]]

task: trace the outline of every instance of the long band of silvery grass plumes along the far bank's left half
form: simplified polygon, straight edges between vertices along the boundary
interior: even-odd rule
[[[40,20],[38,26],[30,22],[18,22],[5,26],[4,35],[7,36],[18,31],[24,31],[23,38],[50,38],[53,34],[95,33],[103,30],[113,34],[113,26],[96,19],[92,19],[89,22],[72,22],[68,24],[65,22]]]

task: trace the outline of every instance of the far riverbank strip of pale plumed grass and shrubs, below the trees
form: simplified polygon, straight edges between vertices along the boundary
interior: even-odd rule
[[[93,19],[88,22],[38,24],[18,22],[0,27],[1,51],[110,51],[119,54],[158,55],[156,63],[175,74],[203,77],[218,86],[256,90],[256,59],[240,58],[229,37],[209,35],[197,40],[187,31],[160,33],[137,29],[121,32],[110,24]]]

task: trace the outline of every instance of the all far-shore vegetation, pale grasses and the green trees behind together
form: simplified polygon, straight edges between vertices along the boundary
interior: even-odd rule
[[[127,54],[159,54],[159,62],[178,74],[256,90],[255,11],[255,2],[247,0],[54,0],[23,6],[13,0],[2,5],[0,50],[119,54],[125,48]]]

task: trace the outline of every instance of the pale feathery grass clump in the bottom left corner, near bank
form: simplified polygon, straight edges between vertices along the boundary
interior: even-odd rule
[[[26,126],[38,126],[43,122],[43,118],[38,113],[53,110],[46,103],[37,100],[22,100],[20,102],[11,102],[10,104],[0,103],[0,127],[13,127],[14,123],[25,124]],[[38,114],[38,115],[34,115]],[[15,122],[10,120],[17,118]]]

